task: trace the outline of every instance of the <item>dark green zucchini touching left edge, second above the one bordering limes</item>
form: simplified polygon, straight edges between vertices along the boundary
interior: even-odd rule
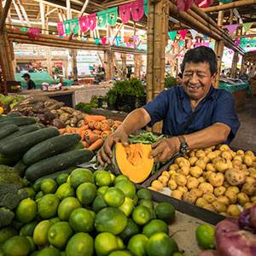
[[[11,156],[15,154],[25,154],[29,148],[44,142],[50,137],[59,135],[58,129],[54,127],[43,128],[38,131],[32,131],[28,134],[16,137],[11,141],[0,146],[0,153]]]

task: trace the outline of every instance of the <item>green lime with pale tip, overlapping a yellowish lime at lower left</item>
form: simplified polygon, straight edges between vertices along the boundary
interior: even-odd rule
[[[49,243],[57,248],[65,248],[72,235],[73,230],[66,221],[57,222],[48,230]]]

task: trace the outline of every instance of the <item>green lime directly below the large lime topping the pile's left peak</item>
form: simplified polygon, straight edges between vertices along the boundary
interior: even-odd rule
[[[76,194],[83,205],[89,205],[96,198],[96,185],[93,183],[82,183],[79,185]]]

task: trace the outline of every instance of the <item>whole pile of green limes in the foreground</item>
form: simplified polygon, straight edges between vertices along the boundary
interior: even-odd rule
[[[0,255],[182,255],[168,236],[174,207],[155,205],[124,175],[78,168],[34,183],[26,195],[0,230]]]

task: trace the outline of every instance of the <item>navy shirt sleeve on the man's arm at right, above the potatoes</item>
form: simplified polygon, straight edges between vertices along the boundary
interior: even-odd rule
[[[227,143],[230,143],[234,137],[236,137],[236,132],[240,127],[240,121],[236,114],[236,105],[234,96],[229,92],[223,91],[220,96],[218,96],[215,111],[212,117],[212,124],[223,123],[230,126],[230,134]]]

